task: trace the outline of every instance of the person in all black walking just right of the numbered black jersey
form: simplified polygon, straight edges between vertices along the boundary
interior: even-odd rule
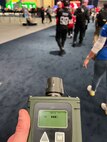
[[[86,31],[86,22],[89,22],[89,12],[86,7],[88,4],[88,0],[84,0],[82,6],[77,8],[74,15],[76,16],[76,23],[74,28],[74,37],[72,46],[75,47],[77,44],[77,37],[79,34],[79,46],[81,46],[83,42],[83,38],[85,36]]]

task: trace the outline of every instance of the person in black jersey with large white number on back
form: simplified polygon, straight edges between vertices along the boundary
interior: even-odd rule
[[[68,32],[68,23],[72,18],[71,13],[68,9],[69,1],[66,0],[63,2],[64,8],[58,10],[56,14],[57,24],[56,24],[56,42],[59,46],[60,52],[59,55],[63,55],[65,53],[64,45],[66,41],[66,36]]]

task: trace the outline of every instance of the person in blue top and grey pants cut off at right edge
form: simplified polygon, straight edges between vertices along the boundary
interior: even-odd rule
[[[87,68],[90,59],[94,57],[95,63],[93,81],[92,85],[87,87],[90,96],[95,96],[96,90],[105,72],[107,82],[107,22],[102,27],[98,40],[95,42],[93,48],[84,60],[83,66]],[[101,107],[103,110],[106,108],[107,112],[107,104],[102,103]]]

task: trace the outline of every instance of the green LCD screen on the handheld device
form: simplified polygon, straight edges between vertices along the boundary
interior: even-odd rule
[[[66,110],[39,110],[38,127],[67,128],[68,112]]]

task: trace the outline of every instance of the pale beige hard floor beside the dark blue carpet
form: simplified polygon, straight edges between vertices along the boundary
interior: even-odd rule
[[[0,44],[55,25],[54,18],[52,23],[45,19],[44,24],[41,23],[41,18],[33,20],[37,23],[36,26],[22,26],[26,21],[23,17],[0,16]]]

